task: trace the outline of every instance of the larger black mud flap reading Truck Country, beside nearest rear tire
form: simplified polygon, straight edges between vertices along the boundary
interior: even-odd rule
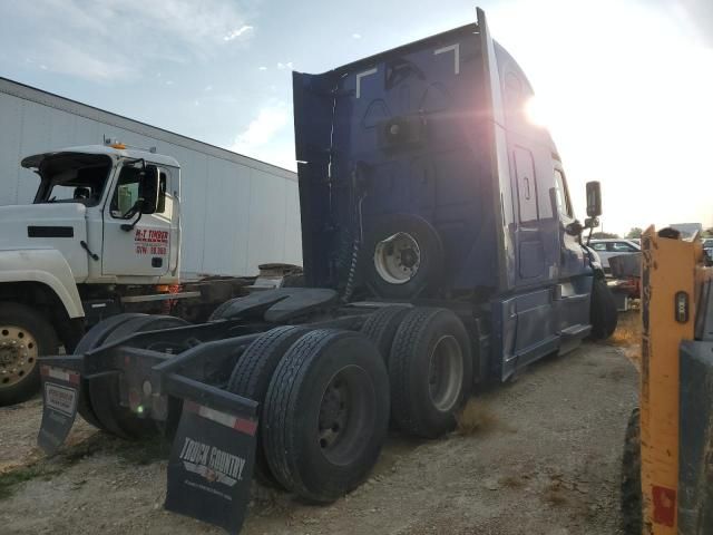
[[[250,502],[257,421],[184,402],[166,508],[237,533]]]

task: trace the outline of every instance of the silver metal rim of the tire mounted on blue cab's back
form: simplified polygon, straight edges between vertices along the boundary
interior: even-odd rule
[[[421,264],[421,250],[416,239],[398,232],[377,244],[374,268],[384,281],[406,284],[416,276]]]

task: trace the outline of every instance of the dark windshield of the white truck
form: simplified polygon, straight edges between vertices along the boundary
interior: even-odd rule
[[[107,184],[111,159],[102,155],[58,154],[42,159],[35,204],[81,203],[96,206]]]

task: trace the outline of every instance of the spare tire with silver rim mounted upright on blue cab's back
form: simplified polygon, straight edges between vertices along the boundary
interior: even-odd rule
[[[382,298],[412,299],[434,293],[443,269],[443,245],[436,228],[416,215],[392,215],[377,223],[362,250],[365,281]]]

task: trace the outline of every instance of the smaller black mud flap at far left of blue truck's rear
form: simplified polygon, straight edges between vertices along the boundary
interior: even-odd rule
[[[42,424],[37,442],[47,455],[55,455],[67,439],[77,417],[81,381],[79,373],[41,364]]]

